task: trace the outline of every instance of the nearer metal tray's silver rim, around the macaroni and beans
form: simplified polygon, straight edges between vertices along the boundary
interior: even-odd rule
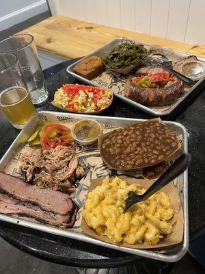
[[[3,171],[5,169],[5,166],[8,165],[8,163],[12,160],[14,155],[23,148],[23,146],[27,143],[27,140],[33,132],[35,132],[35,129],[38,125],[38,123],[44,121],[44,116],[50,117],[57,117],[59,121],[63,121],[64,119],[95,119],[96,121],[100,123],[111,123],[115,126],[125,126],[125,125],[131,125],[132,123],[140,123],[141,119],[127,119],[127,118],[117,118],[117,117],[107,117],[107,116],[91,116],[91,115],[81,115],[81,114],[66,114],[61,112],[38,112],[35,116],[31,118],[29,123],[25,126],[25,128],[18,134],[8,151],[3,155],[3,158],[0,162],[0,171]],[[165,121],[165,124],[169,125],[173,130],[175,130],[178,134],[182,135],[182,144],[181,144],[181,150],[182,152],[188,151],[187,149],[187,130],[183,125],[176,122],[169,122]],[[184,212],[184,237],[180,244],[166,248],[166,253],[156,253],[154,251],[146,250],[146,249],[132,249],[127,247],[120,247],[117,245],[112,245],[107,242],[102,242],[100,240],[96,240],[95,238],[92,238],[90,236],[87,236],[83,233],[73,232],[71,230],[62,230],[56,227],[51,227],[49,225],[43,225],[40,223],[34,223],[32,221],[25,221],[20,218],[14,218],[12,216],[6,216],[3,214],[0,214],[0,220],[6,221],[8,223],[14,223],[16,225],[23,225],[24,227],[31,227],[33,229],[38,229],[43,232],[48,232],[51,234],[56,234],[60,236],[65,236],[68,238],[73,238],[75,240],[81,240],[83,242],[90,242],[94,245],[100,245],[102,247],[109,247],[111,249],[117,249],[119,251],[124,251],[126,253],[135,254],[136,256],[143,256],[146,258],[154,259],[154,260],[161,260],[165,262],[176,262],[184,256],[184,254],[187,252],[188,246],[189,246],[189,215],[188,215],[188,173],[187,171],[184,171],[182,175],[178,177],[178,195],[180,196],[180,200],[182,203],[182,208]]]

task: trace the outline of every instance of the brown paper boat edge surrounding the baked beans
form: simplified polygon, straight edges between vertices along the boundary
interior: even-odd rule
[[[163,123],[163,121],[161,121],[161,119],[160,118],[154,118],[154,119],[150,119],[150,120],[148,120],[148,121],[144,121],[144,122],[141,122],[141,123],[151,123],[151,122],[154,122],[154,121],[157,121],[157,122],[159,122],[159,123],[161,123],[161,124],[163,124],[163,125],[165,125],[165,123]],[[136,124],[133,124],[133,125],[137,125],[137,123]],[[113,129],[113,130],[115,130],[115,129]],[[102,135],[100,135],[99,137],[98,137],[98,147],[99,147],[99,149],[100,149],[100,155],[101,155],[101,157],[102,157],[102,160],[105,162],[105,164],[107,164],[107,166],[110,168],[110,169],[115,169],[115,170],[124,170],[124,171],[135,171],[135,170],[141,170],[141,169],[145,169],[146,167],[150,167],[150,166],[154,166],[154,165],[156,165],[156,164],[159,164],[159,163],[161,163],[161,162],[163,162],[163,161],[165,161],[165,160],[167,160],[167,158],[169,158],[170,156],[172,156],[176,151],[178,151],[178,149],[180,149],[180,147],[181,147],[181,145],[180,145],[180,142],[179,142],[179,140],[178,140],[178,145],[177,145],[177,147],[176,147],[176,149],[174,149],[174,151],[170,154],[170,155],[168,155],[165,159],[163,159],[162,161],[159,161],[159,162],[157,162],[156,164],[148,164],[148,165],[146,165],[146,166],[139,166],[139,167],[136,167],[135,169],[119,169],[119,168],[116,168],[115,166],[112,166],[111,165],[111,163],[109,163],[107,160],[105,160],[105,158],[103,157],[103,153],[102,153],[102,150],[103,150],[103,148],[102,148],[102,144],[103,144],[103,140],[107,137],[107,136],[109,136],[111,134],[111,132],[107,132],[107,133],[105,133],[105,134],[102,134]]]

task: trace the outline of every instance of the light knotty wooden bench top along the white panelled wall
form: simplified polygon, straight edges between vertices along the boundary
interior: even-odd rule
[[[66,60],[87,55],[119,37],[135,39],[205,59],[204,46],[87,23],[65,16],[47,18],[20,33],[32,34],[38,49]]]

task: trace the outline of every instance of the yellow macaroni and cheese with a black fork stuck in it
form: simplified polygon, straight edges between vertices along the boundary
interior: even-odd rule
[[[155,245],[163,236],[172,233],[169,220],[174,211],[169,197],[164,192],[156,192],[124,213],[125,200],[131,190],[138,195],[145,192],[139,184],[127,185],[118,177],[103,179],[101,186],[88,193],[83,218],[89,227],[113,242]]]

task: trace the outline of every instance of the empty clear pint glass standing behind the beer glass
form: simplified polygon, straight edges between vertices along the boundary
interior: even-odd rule
[[[38,51],[33,36],[17,34],[0,41],[0,53],[14,53],[17,56],[32,102],[35,105],[46,103],[49,99],[49,92],[38,60]]]

